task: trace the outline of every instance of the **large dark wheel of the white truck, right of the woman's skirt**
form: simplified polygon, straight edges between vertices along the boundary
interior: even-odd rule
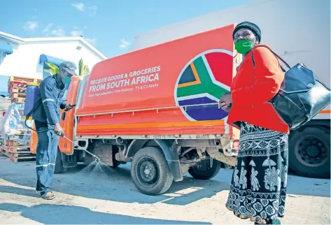
[[[304,177],[330,177],[330,131],[321,126],[307,126],[291,133],[289,166]]]

